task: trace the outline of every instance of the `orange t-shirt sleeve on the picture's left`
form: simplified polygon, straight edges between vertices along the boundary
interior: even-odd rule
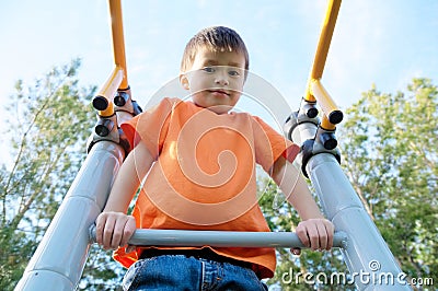
[[[163,98],[158,105],[120,125],[131,149],[141,141],[154,159],[159,156],[175,102],[176,100]]]

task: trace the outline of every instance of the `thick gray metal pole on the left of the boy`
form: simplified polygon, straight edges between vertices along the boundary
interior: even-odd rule
[[[15,290],[74,290],[90,247],[89,225],[102,211],[123,159],[120,146],[94,144]]]

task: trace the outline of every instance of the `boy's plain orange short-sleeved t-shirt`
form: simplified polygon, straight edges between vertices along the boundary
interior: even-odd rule
[[[269,171],[280,155],[292,161],[299,147],[262,119],[164,98],[122,128],[132,148],[145,142],[155,159],[134,208],[137,228],[270,231],[257,203],[255,164]],[[260,278],[274,275],[274,248],[210,248],[252,263]],[[114,257],[129,267],[143,249],[119,248]]]

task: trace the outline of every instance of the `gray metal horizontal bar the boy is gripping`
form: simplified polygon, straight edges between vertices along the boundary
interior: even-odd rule
[[[95,226],[90,229],[95,242]],[[336,232],[334,247],[345,247],[347,236]],[[216,247],[300,247],[306,246],[293,232],[230,232],[138,229],[129,240],[137,246],[216,246]]]

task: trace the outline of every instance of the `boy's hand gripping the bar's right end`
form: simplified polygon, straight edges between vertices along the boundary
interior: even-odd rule
[[[334,225],[326,219],[309,219],[298,223],[296,233],[303,245],[312,251],[330,251],[333,246]],[[292,254],[300,255],[300,248],[291,248]]]

